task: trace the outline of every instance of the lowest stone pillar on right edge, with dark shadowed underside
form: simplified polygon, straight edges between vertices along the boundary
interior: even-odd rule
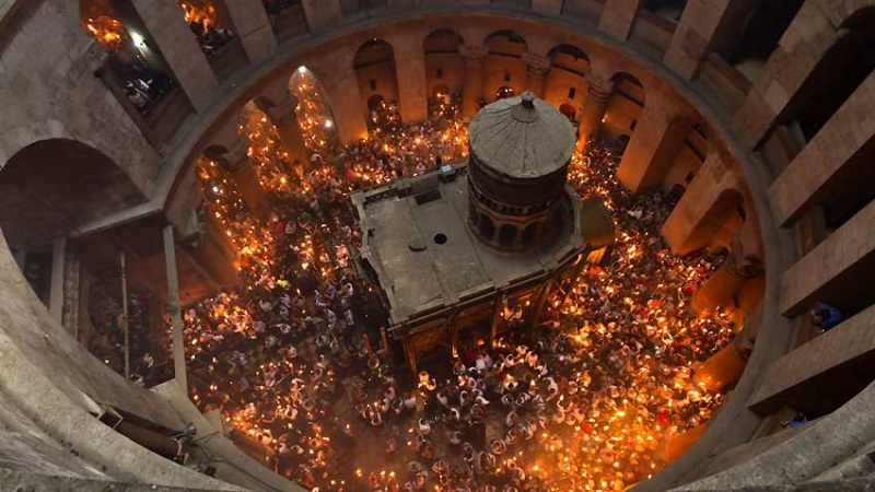
[[[872,383],[875,305],[784,354],[768,367],[748,407],[772,413],[784,406],[828,413]]]

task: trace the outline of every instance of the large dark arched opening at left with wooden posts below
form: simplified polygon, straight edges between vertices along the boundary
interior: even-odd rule
[[[141,355],[164,333],[161,316],[153,318],[162,307],[154,289],[160,288],[156,281],[163,281],[163,271],[155,276],[154,266],[148,265],[148,241],[131,242],[129,235],[132,229],[142,235],[143,227],[75,238],[71,233],[145,202],[145,195],[122,168],[74,140],[32,143],[0,171],[0,227],[22,273],[67,331],[119,373],[124,371],[119,254],[127,254],[128,323],[139,329],[130,340],[131,367],[140,375],[144,375]],[[154,239],[160,237],[159,229]],[[109,315],[90,316],[97,311]],[[159,359],[158,352],[153,354]]]

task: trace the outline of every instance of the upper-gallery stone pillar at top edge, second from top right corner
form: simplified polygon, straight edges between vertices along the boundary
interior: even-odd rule
[[[710,52],[740,36],[756,0],[689,0],[663,61],[684,80],[692,80]]]

